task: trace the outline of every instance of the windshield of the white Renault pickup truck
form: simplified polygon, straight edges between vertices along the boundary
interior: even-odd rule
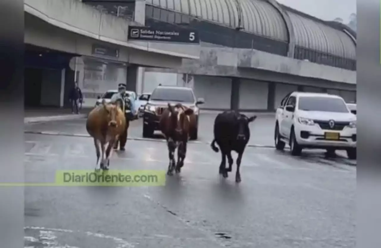
[[[299,97],[298,109],[304,111],[324,111],[348,113],[345,102],[340,98],[301,96]]]

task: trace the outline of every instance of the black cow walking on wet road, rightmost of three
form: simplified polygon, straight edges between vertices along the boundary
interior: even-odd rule
[[[224,178],[227,177],[227,172],[232,171],[233,158],[231,151],[238,153],[237,172],[235,173],[235,182],[241,182],[239,167],[241,165],[242,154],[250,139],[249,123],[257,118],[256,115],[247,117],[235,111],[225,111],[217,115],[214,123],[214,139],[211,143],[213,151],[218,152],[215,145],[217,142],[221,149],[221,164],[219,166],[219,174]],[[229,168],[226,169],[226,158],[229,162]]]

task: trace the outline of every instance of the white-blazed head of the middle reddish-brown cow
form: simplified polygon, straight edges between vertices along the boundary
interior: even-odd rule
[[[168,110],[170,112],[170,122],[171,127],[174,129],[176,135],[182,136],[184,132],[189,131],[189,123],[191,119],[189,118],[192,115],[193,109],[184,108],[181,104],[176,104],[171,106],[168,103]]]

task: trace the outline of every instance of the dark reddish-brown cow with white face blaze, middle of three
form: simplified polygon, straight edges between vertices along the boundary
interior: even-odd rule
[[[160,117],[159,128],[165,136],[168,152],[169,165],[168,175],[173,175],[173,170],[176,173],[181,171],[184,166],[184,159],[187,153],[187,142],[189,140],[189,131],[195,128],[196,118],[192,109],[189,109],[178,103],[171,106],[168,103],[168,108],[165,109]],[[174,151],[178,147],[178,161],[175,168]]]

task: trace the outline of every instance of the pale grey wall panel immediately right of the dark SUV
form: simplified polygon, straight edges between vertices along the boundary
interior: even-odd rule
[[[194,76],[194,94],[204,98],[202,109],[230,109],[231,79],[226,77]]]

